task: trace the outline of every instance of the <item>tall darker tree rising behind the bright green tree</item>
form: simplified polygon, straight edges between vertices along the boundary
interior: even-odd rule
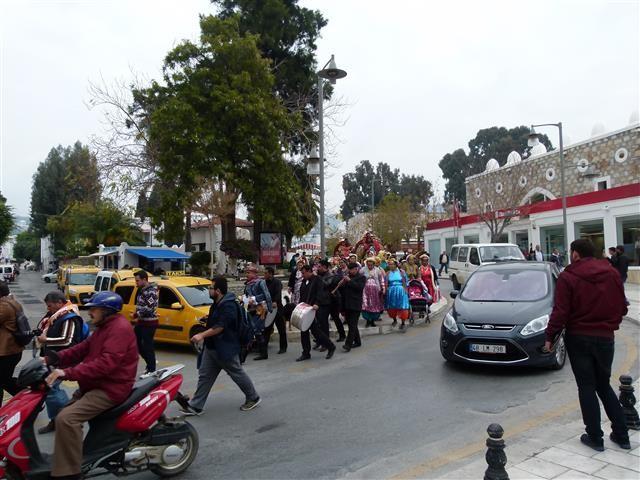
[[[257,46],[271,60],[273,90],[291,111],[303,117],[301,128],[293,125],[289,137],[292,151],[308,148],[309,132],[317,118],[318,65],[316,42],[327,20],[320,11],[298,5],[298,0],[212,0],[222,19],[237,18],[241,34],[258,35]],[[331,86],[325,87],[325,98]]]

